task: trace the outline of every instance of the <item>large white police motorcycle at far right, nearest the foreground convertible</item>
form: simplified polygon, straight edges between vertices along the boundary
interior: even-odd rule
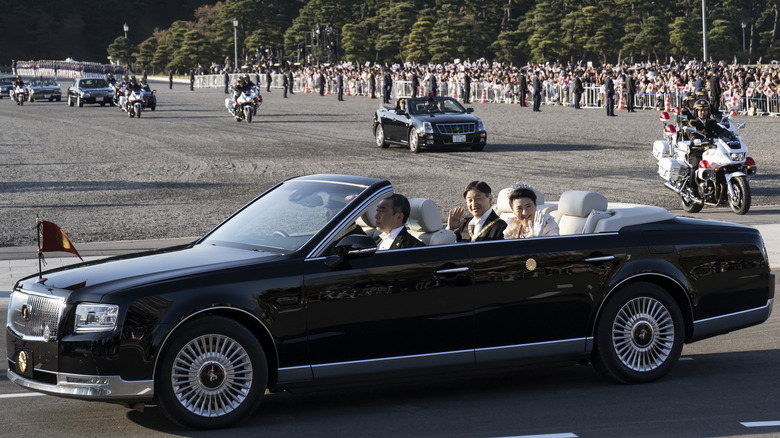
[[[697,101],[696,107],[699,106]],[[756,174],[757,166],[747,155],[747,146],[739,135],[745,123],[733,123],[733,110],[718,117],[720,120],[716,118],[722,128],[719,134],[693,140],[686,137],[696,137],[696,128],[684,126],[678,131],[669,124],[669,114],[661,114],[664,139],[653,142],[658,175],[663,178],[666,188],[680,196],[682,208],[688,213],[698,213],[705,205],[728,204],[736,214],[745,214],[750,209],[748,179]],[[692,163],[696,160],[692,157],[699,155],[701,159],[694,167]]]

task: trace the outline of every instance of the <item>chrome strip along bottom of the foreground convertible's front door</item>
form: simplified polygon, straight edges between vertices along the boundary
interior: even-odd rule
[[[473,365],[474,350],[445,351],[399,357],[356,360],[312,365],[315,379],[352,376],[359,374],[405,371],[416,368],[432,368],[448,365]]]

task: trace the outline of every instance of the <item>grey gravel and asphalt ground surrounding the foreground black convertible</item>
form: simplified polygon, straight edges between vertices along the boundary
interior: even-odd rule
[[[661,126],[654,111],[607,119],[596,110],[545,107],[532,113],[515,105],[475,105],[490,132],[484,152],[412,155],[373,146],[370,121],[377,101],[353,97],[339,103],[335,96],[312,95],[284,100],[275,91],[264,95],[259,117],[247,125],[228,116],[219,90],[159,88],[158,110],[132,120],[113,108],[46,102],[16,107],[0,101],[0,259],[34,257],[36,214],[61,225],[85,255],[100,257],[121,247],[165,246],[203,234],[270,184],[315,172],[389,178],[399,192],[434,199],[442,211],[459,205],[462,187],[477,178],[494,188],[522,180],[548,199],[567,189],[589,189],[611,201],[677,208],[653,167],[650,145]],[[741,217],[725,209],[697,216],[756,225],[767,230],[765,237],[780,235],[780,178],[775,176],[780,163],[772,150],[780,127],[769,118],[747,122],[744,136],[759,164],[752,181],[756,207]],[[773,248],[780,250],[770,244]],[[773,257],[777,260],[780,256]],[[686,346],[672,373],[649,385],[615,385],[590,367],[577,366],[273,394],[229,433],[778,436],[780,425],[773,422],[780,421],[780,392],[772,382],[780,380],[780,316],[775,310],[765,324]],[[5,313],[0,304],[0,318]],[[4,337],[0,344],[4,351]],[[7,381],[6,366],[0,364],[3,436],[226,433],[177,429],[156,409],[140,414],[31,395]],[[757,423],[762,426],[748,427]]]

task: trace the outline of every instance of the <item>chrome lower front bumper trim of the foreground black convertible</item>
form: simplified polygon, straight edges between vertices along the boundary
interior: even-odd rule
[[[122,401],[151,400],[154,398],[154,380],[122,380],[119,376],[87,376],[81,374],[51,373],[57,384],[41,383],[8,370],[8,380],[32,391],[60,397],[84,400]]]

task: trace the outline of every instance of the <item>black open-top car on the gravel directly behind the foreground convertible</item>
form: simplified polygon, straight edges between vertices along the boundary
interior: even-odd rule
[[[464,146],[481,151],[487,144],[485,123],[450,97],[399,99],[395,108],[380,107],[374,114],[376,145],[409,147]]]

